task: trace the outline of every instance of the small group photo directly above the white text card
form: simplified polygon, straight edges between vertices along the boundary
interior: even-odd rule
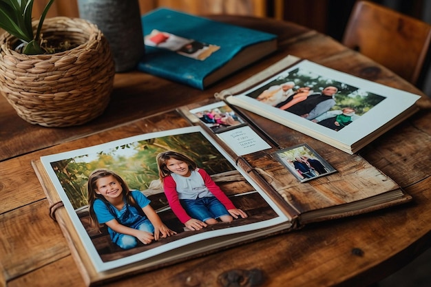
[[[215,134],[246,125],[245,120],[225,103],[214,103],[192,109],[191,114],[197,116]]]

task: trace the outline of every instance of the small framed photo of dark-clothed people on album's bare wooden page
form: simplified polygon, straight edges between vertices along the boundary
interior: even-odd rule
[[[275,151],[275,158],[300,182],[335,173],[337,170],[306,144]]]

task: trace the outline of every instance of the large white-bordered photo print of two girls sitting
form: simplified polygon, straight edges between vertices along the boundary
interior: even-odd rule
[[[41,162],[98,271],[288,221],[200,127],[125,138]]]

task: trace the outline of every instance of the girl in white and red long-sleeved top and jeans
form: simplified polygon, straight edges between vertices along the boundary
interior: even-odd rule
[[[182,153],[159,153],[157,164],[169,206],[187,228],[198,230],[218,220],[231,222],[233,218],[247,217],[206,171]]]

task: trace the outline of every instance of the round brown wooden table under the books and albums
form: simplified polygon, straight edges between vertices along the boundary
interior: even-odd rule
[[[204,92],[141,72],[116,74],[105,113],[79,127],[30,125],[0,99],[0,286],[84,284],[59,226],[48,216],[48,200],[31,160],[163,129],[163,111],[212,98],[215,92],[244,81],[287,54],[421,94],[384,67],[313,30],[271,19],[213,19],[273,32],[279,36],[280,49]],[[360,152],[413,196],[411,204],[310,224],[300,231],[242,244],[110,286],[220,286],[217,278],[221,273],[255,268],[264,274],[260,286],[366,286],[390,275],[431,242],[431,103],[423,96],[419,104],[419,113]],[[154,114],[158,115],[144,118]],[[74,141],[78,138],[83,139]],[[59,148],[61,143],[66,144]],[[362,253],[353,252],[359,249]]]

